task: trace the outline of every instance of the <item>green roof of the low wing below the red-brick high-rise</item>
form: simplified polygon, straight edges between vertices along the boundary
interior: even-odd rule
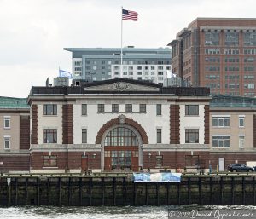
[[[210,107],[256,109],[256,98],[231,95],[213,95],[212,100],[210,101]]]

